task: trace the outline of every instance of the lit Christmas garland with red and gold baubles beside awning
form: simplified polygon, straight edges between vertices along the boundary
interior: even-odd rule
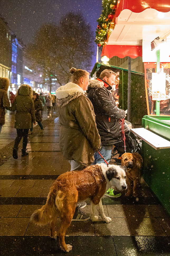
[[[117,0],[103,0],[102,1],[102,14],[97,20],[98,25],[96,29],[95,43],[100,47],[105,44],[107,39],[107,32],[110,28],[110,23],[114,18],[115,10],[117,6]]]

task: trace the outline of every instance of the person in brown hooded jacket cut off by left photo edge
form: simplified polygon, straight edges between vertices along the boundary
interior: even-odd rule
[[[5,124],[5,108],[10,107],[7,91],[10,80],[5,77],[0,77],[0,133],[2,126]]]

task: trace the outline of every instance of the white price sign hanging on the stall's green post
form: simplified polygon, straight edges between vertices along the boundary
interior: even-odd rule
[[[152,100],[166,100],[166,73],[152,73]]]

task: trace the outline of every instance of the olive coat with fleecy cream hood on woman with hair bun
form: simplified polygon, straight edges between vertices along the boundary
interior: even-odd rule
[[[60,149],[68,160],[87,166],[101,146],[93,105],[80,86],[67,83],[56,90]]]

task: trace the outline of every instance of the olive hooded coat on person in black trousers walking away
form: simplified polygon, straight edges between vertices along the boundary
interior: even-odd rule
[[[32,99],[32,89],[29,85],[21,85],[17,91],[17,96],[12,107],[8,108],[11,111],[16,111],[15,128],[29,129],[31,123],[35,123],[34,102]]]

